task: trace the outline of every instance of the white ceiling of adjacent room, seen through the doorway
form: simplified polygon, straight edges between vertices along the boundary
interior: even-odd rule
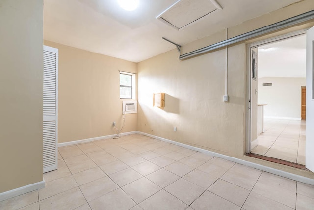
[[[306,35],[259,47],[258,77],[306,77]]]

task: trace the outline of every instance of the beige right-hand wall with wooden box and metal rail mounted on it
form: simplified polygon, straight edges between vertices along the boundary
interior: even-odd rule
[[[314,9],[305,0],[228,28],[228,37],[285,20]],[[313,26],[314,22],[228,47],[228,95],[225,92],[226,49],[180,61],[176,50],[138,64],[138,131],[314,178],[311,172],[244,156],[248,110],[247,45],[267,37]],[[183,46],[183,53],[222,41],[226,30]],[[153,93],[164,92],[165,107],[153,107]],[[173,127],[177,131],[173,131]]]

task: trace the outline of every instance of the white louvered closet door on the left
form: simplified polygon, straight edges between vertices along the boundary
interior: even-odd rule
[[[44,46],[44,173],[58,168],[58,49]]]

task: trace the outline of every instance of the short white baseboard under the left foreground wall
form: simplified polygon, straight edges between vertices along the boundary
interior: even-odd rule
[[[0,201],[4,201],[6,199],[10,199],[19,195],[23,195],[27,192],[31,192],[37,189],[41,189],[45,187],[45,181],[41,181],[34,184],[28,184],[26,186],[22,186],[16,189],[12,189],[6,192],[0,193]]]

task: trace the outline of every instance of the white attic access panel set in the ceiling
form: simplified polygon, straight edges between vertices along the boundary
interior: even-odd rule
[[[178,0],[156,18],[177,30],[222,9],[216,0]]]

